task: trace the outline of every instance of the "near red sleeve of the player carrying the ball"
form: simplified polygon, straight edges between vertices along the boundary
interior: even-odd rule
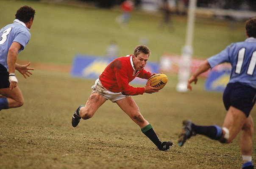
[[[142,95],[145,92],[144,87],[132,87],[128,82],[128,65],[122,64],[122,68],[115,68],[117,84],[123,95]]]

